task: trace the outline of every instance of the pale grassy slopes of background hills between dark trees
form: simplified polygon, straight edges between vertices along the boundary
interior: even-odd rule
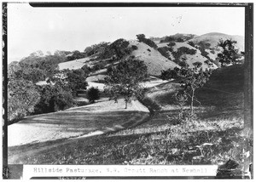
[[[226,35],[223,33],[218,33],[218,32],[212,32],[212,33],[207,33],[201,36],[196,36],[192,34],[175,34],[171,36],[173,38],[183,38],[184,42],[177,42],[174,41],[175,45],[172,46],[172,52],[170,50],[167,50],[166,53],[169,54],[169,56],[164,56],[160,54],[159,50],[156,48],[151,48],[149,47],[146,43],[139,43],[136,40],[131,40],[129,41],[129,46],[136,46],[137,49],[133,49],[131,51],[130,56],[134,56],[138,60],[143,60],[144,63],[148,66],[148,74],[151,76],[160,76],[161,71],[167,70],[169,68],[173,69],[174,67],[179,67],[175,61],[175,56],[173,52],[177,52],[178,48],[189,48],[196,50],[195,54],[186,54],[183,53],[179,59],[179,61],[185,61],[189,66],[193,66],[193,63],[199,61],[202,63],[203,69],[206,69],[208,65],[206,64],[206,60],[211,60],[212,61],[212,69],[216,69],[218,65],[216,65],[216,58],[217,54],[220,52],[220,49],[217,48],[217,43],[219,39],[228,39],[232,38],[237,41],[237,48],[240,48],[240,50],[244,50],[244,38],[241,36],[230,36]],[[161,38],[154,38],[151,37],[152,40],[157,43],[158,48],[163,48],[163,47],[169,47],[167,44],[168,43],[160,43],[160,40],[164,40],[166,37],[161,37]],[[189,45],[189,42],[195,43],[197,47],[192,47]],[[208,46],[206,47],[205,51],[207,52],[207,56],[205,54],[201,53],[201,50],[198,46],[201,44],[207,44]],[[170,48],[170,47],[169,47]],[[97,54],[92,55],[90,57],[86,57],[84,59],[79,59],[79,60],[71,60],[67,61],[64,63],[59,64],[59,69],[79,69],[84,65],[88,65],[90,67],[93,67],[94,65],[98,63],[102,63],[104,65],[103,69],[100,71],[92,71],[90,74],[90,77],[88,80],[90,81],[98,81],[98,80],[103,80],[105,77],[106,73],[106,68],[108,65],[111,64],[117,64],[119,60],[116,60],[109,64],[109,59],[107,60],[101,60],[97,58]],[[111,62],[111,61],[110,61]]]

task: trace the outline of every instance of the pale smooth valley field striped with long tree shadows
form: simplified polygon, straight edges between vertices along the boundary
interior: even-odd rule
[[[26,117],[9,125],[8,145],[40,143],[78,137],[97,130],[124,128],[121,125],[125,122],[137,122],[144,113],[148,113],[148,109],[138,101],[132,101],[128,109],[124,108],[124,100],[114,103],[113,100],[105,98],[92,105]]]

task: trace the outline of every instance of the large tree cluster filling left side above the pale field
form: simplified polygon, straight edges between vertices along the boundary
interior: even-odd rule
[[[88,85],[85,79],[89,72],[84,71],[85,67],[75,71],[57,70],[57,64],[65,60],[64,54],[40,56],[31,54],[9,65],[9,123],[27,115],[66,109],[75,104],[73,97],[78,90]],[[44,80],[47,84],[37,84]]]

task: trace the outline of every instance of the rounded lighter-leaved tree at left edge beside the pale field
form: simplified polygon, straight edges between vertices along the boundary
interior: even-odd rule
[[[9,77],[7,98],[9,124],[31,114],[39,98],[40,94],[31,81],[22,77]]]

